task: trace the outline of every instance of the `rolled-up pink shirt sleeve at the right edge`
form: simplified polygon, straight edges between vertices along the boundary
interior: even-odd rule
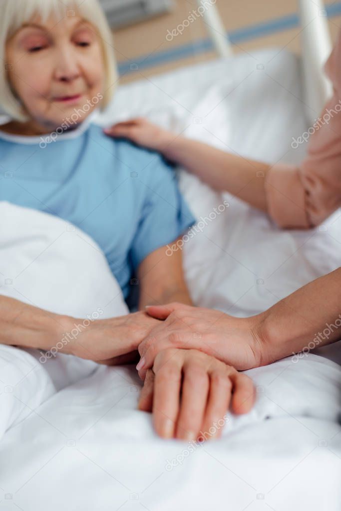
[[[299,167],[277,164],[265,181],[268,211],[280,227],[319,225],[341,206],[341,31],[325,71],[334,93],[309,133],[306,159]],[[305,143],[298,137],[297,143]]]

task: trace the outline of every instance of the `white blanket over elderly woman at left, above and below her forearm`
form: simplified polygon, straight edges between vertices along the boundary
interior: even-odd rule
[[[103,252],[83,231],[8,202],[0,202],[0,217],[0,294],[75,318],[129,312]],[[0,437],[97,367],[69,355],[46,358],[38,350],[0,344]]]

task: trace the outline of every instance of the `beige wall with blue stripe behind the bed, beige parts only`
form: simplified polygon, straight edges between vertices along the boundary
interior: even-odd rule
[[[170,14],[155,17],[143,23],[120,29],[115,33],[115,49],[118,62],[135,61],[135,59],[150,54],[156,54],[207,38],[207,30],[204,21],[200,18],[186,28],[182,35],[177,36],[172,42],[165,38],[167,30],[172,31],[189,16],[189,13],[197,8],[194,0],[176,0],[176,9]],[[334,4],[335,2],[326,2]],[[260,24],[264,21],[280,18],[293,14],[297,11],[297,0],[216,0],[216,6],[221,12],[227,30],[234,31]],[[330,19],[330,28],[333,39],[336,37],[341,17]],[[288,50],[299,52],[300,29],[285,30],[262,36],[249,41],[243,41],[235,45],[235,52],[252,51],[257,48],[269,46],[286,47]],[[142,76],[150,76],[162,73],[178,66],[188,65],[205,59],[214,58],[214,52],[209,52],[194,57],[168,62],[156,67],[143,69],[123,77],[123,81],[140,79]]]

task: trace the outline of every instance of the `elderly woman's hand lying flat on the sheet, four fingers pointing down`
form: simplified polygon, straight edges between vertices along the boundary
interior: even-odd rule
[[[219,438],[230,407],[247,413],[254,404],[250,378],[197,350],[164,350],[155,358],[141,391],[139,409],[153,411],[163,438]]]

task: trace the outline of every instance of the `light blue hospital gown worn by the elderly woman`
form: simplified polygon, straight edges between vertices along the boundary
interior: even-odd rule
[[[159,154],[113,140],[91,123],[49,142],[0,132],[0,200],[85,231],[127,298],[143,259],[194,223],[175,173]]]

